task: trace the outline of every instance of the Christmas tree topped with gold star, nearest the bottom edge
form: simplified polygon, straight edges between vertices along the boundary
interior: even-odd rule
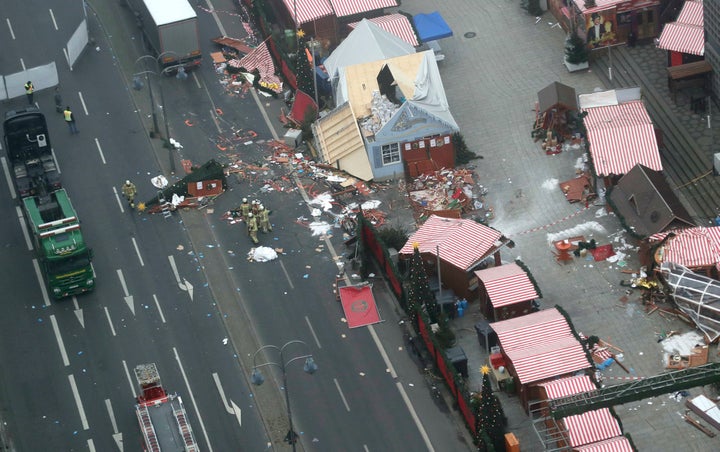
[[[490,386],[490,367],[482,366],[480,372],[483,374],[483,388],[476,417],[479,450],[503,450],[507,419],[500,400]]]

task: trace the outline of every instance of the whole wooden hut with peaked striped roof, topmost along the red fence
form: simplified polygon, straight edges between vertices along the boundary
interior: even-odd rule
[[[414,243],[418,244],[428,270],[437,275],[439,269],[444,287],[458,298],[473,301],[477,298],[474,270],[491,256],[494,265],[500,265],[500,250],[510,239],[474,220],[432,215],[399,251],[401,259],[413,255]]]

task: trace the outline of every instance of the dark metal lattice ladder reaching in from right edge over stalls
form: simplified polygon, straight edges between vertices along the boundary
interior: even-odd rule
[[[720,381],[720,363],[708,363],[551,400],[550,412],[553,418],[561,419],[718,381]]]

